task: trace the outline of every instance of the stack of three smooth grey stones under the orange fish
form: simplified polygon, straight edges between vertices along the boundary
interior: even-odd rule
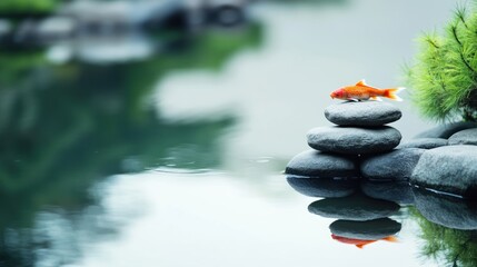
[[[397,107],[378,101],[347,101],[326,108],[325,117],[336,126],[311,129],[307,139],[312,149],[295,156],[287,166],[287,175],[358,178],[365,171],[370,178],[389,176],[375,174],[382,166],[378,162],[375,168],[372,159],[391,151],[400,142],[400,132],[386,126],[400,119],[401,111]],[[396,164],[399,162],[385,169],[395,168]]]

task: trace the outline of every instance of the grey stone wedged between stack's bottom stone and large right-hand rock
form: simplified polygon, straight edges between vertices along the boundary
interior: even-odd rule
[[[361,175],[375,180],[408,180],[425,151],[421,148],[403,148],[369,156],[361,161]]]

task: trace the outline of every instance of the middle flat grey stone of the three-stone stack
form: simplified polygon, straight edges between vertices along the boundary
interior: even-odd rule
[[[321,151],[360,155],[391,150],[401,139],[398,130],[389,126],[376,128],[317,127],[307,134],[308,145]]]

